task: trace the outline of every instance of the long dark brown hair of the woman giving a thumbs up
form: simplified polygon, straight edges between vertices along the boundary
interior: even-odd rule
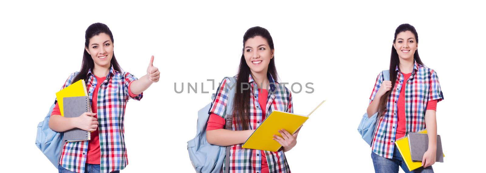
[[[103,23],[93,23],[89,25],[89,27],[86,29],[85,48],[88,47],[89,39],[91,39],[91,37],[95,35],[100,35],[101,33],[109,35],[111,42],[113,43],[113,34],[111,34],[111,30],[108,28],[108,26],[106,26]],[[83,62],[81,63],[81,69],[79,70],[79,73],[74,77],[74,80],[72,81],[73,83],[81,79],[84,79],[85,82],[87,83],[88,70],[89,69],[93,70],[94,68],[93,58],[91,58],[91,55],[86,51],[86,49],[83,50],[84,53],[83,53]],[[117,59],[115,58],[115,52],[113,52],[113,56],[111,57],[110,63],[113,66],[113,69],[121,72],[122,69],[118,64]]]

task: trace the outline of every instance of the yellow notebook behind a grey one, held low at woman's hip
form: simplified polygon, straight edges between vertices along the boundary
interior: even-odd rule
[[[427,134],[427,129],[423,129],[421,131],[418,131],[417,133]],[[403,158],[403,161],[405,161],[405,164],[407,165],[409,171],[413,171],[422,166],[422,162],[412,161],[412,156],[410,156],[410,145],[408,144],[408,135],[403,138],[397,139],[395,141],[395,145],[400,151],[400,155]]]

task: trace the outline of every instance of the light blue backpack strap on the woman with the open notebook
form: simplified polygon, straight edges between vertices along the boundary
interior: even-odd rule
[[[228,102],[226,103],[226,124],[225,124],[225,129],[226,130],[233,130],[231,128],[231,124],[233,122],[233,98],[235,97],[235,90],[236,90],[236,78],[235,77],[226,77],[229,79],[229,84],[227,87],[229,87],[229,93],[228,93]],[[229,147],[231,146],[226,146],[226,156],[225,156],[225,163],[226,163],[226,169],[224,170],[223,173],[229,173]]]

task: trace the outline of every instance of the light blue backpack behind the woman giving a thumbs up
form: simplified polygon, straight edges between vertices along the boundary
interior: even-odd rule
[[[59,157],[61,156],[61,150],[64,147],[62,141],[64,133],[59,133],[51,130],[49,128],[49,119],[51,118],[52,109],[56,102],[52,104],[49,112],[47,112],[44,121],[40,121],[37,125],[37,136],[35,137],[35,145],[40,149],[44,155],[51,161],[51,163],[56,167],[59,165]]]

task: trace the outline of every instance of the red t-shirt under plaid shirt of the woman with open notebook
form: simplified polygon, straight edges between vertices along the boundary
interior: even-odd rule
[[[258,94],[258,103],[260,104],[261,115],[263,116],[261,121],[265,120],[266,117],[266,108],[267,108],[267,98],[268,98],[268,90],[259,88]],[[225,119],[215,113],[211,113],[209,115],[208,126],[206,127],[206,131],[208,130],[216,130],[222,129],[225,126]],[[269,173],[268,170],[268,163],[267,157],[265,156],[265,152],[261,151],[261,173]]]

